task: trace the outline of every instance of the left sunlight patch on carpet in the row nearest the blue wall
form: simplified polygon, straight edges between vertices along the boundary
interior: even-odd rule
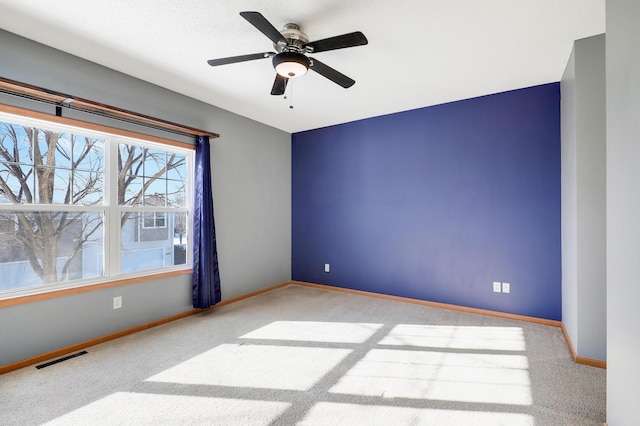
[[[274,321],[243,339],[294,340],[328,343],[364,343],[382,324],[316,321]]]

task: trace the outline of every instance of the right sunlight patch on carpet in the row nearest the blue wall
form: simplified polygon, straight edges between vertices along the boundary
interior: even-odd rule
[[[521,327],[399,324],[379,343],[451,349],[526,350]]]

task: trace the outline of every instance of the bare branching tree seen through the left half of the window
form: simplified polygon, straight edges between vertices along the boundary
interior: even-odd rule
[[[102,140],[9,123],[2,123],[0,138],[0,202],[102,202]],[[2,234],[11,247],[8,255],[26,258],[43,283],[64,281],[76,255],[102,227],[102,215],[47,211],[45,206],[40,211],[2,211],[1,216],[15,224]]]

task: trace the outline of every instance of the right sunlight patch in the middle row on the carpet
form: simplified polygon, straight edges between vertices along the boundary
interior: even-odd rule
[[[374,349],[330,390],[332,393],[531,405],[527,358]]]

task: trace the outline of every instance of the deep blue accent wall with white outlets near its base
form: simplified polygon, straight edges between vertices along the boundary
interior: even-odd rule
[[[292,279],[561,320],[559,83],[296,133],[292,171]]]

